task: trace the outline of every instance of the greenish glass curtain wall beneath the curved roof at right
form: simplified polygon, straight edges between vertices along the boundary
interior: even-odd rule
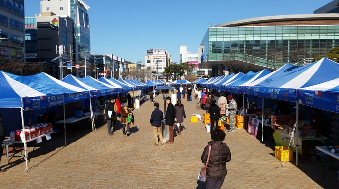
[[[272,68],[272,63],[282,66],[326,56],[330,49],[339,47],[339,26],[209,28],[201,45],[204,61],[252,59]]]

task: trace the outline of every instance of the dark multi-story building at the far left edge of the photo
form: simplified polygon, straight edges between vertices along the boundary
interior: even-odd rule
[[[25,62],[24,0],[0,0],[0,63]]]

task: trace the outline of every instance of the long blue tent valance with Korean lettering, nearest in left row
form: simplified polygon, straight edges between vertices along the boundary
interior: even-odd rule
[[[40,96],[40,97],[28,97],[24,98],[24,109],[37,109],[45,108],[49,106],[56,106],[65,103],[75,102],[78,100],[83,100],[89,97],[88,91],[72,93],[72,94],[59,94],[59,95],[49,95],[49,96]]]

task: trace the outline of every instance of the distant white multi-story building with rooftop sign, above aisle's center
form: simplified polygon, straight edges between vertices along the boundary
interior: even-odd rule
[[[152,79],[166,80],[166,75],[162,73],[165,68],[172,63],[172,57],[165,49],[150,49],[147,50],[145,62],[148,74]]]

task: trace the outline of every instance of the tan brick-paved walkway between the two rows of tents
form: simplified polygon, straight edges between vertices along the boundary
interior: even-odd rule
[[[163,96],[154,98],[164,111]],[[173,144],[154,146],[149,119],[153,103],[147,101],[133,111],[135,125],[131,136],[122,134],[121,125],[114,136],[107,134],[106,125],[67,136],[69,145],[63,147],[63,135],[46,142],[44,147],[28,148],[28,173],[20,158],[2,156],[0,189],[204,189],[197,176],[202,167],[201,154],[210,134],[202,121],[190,122],[191,114],[202,114],[197,100],[182,101],[187,117],[181,135],[174,135]],[[118,122],[119,123],[119,122]],[[176,130],[175,130],[176,131]],[[330,162],[302,159],[282,162],[274,157],[271,147],[254,139],[244,129],[226,133],[232,160],[227,163],[228,175],[222,189],[335,189],[339,186],[337,171]],[[295,159],[295,158],[294,158]],[[13,163],[12,163],[13,162]],[[338,162],[334,162],[338,163]]]

